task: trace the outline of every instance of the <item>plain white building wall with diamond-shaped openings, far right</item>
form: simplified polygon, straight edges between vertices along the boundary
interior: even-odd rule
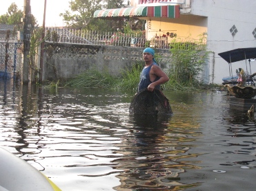
[[[229,76],[228,63],[218,54],[230,49],[256,47],[252,32],[256,27],[256,1],[253,0],[194,0],[191,14],[208,16],[208,49],[215,52],[215,79],[220,84],[222,78]],[[237,34],[232,36],[230,28],[235,25]],[[248,62],[247,62],[248,63]],[[235,69],[246,70],[245,61],[233,63]],[[252,73],[256,72],[256,63],[251,63]],[[209,66],[210,71],[213,65]]]

